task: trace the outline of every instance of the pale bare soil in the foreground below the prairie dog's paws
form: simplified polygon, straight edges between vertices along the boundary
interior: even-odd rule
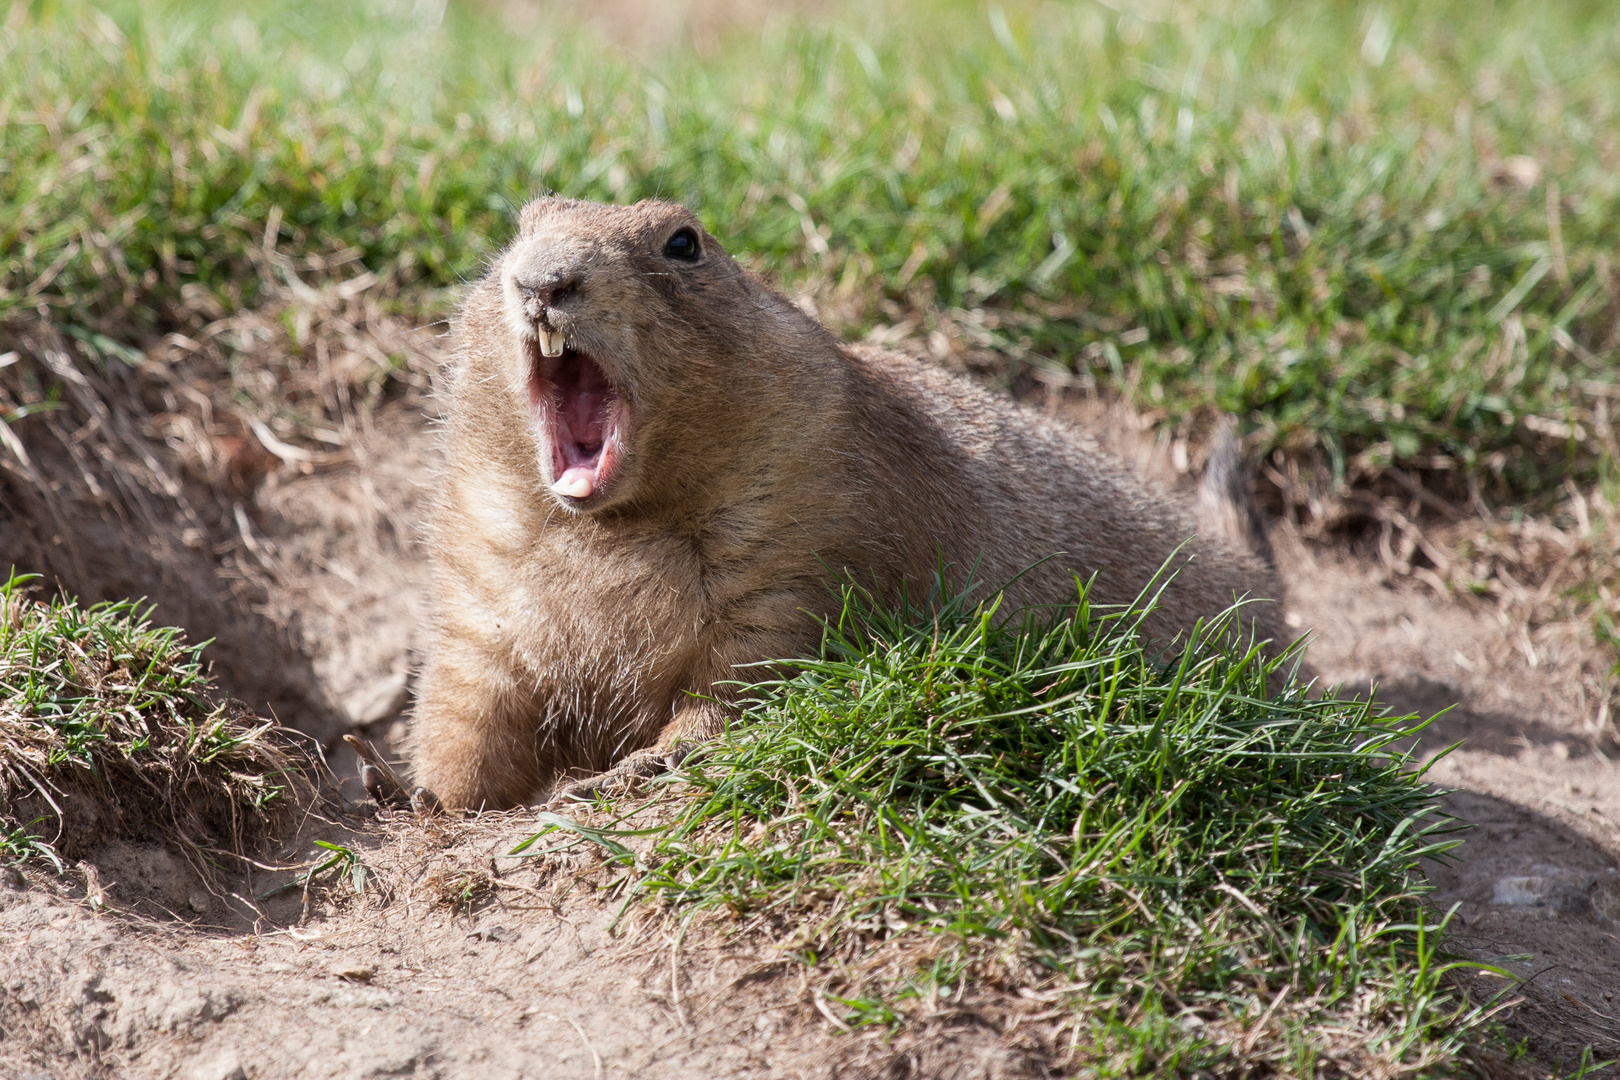
[[[298,891],[249,904],[245,878],[241,892],[211,895],[160,848],[104,852],[89,897],[0,887],[0,1074],[872,1075],[862,1059],[883,1072],[904,1054],[829,1040],[779,957],[682,950],[659,925],[609,934],[619,905],[595,889],[570,895],[590,858],[494,876],[489,853],[531,829],[520,814],[364,826],[343,839],[373,884],[335,889],[306,920]],[[922,1075],[1029,1075],[1000,1031],[974,1035],[932,1040]],[[985,1069],[962,1069],[975,1059]]]

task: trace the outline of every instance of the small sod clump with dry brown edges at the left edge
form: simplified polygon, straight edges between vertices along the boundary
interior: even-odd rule
[[[0,583],[0,858],[243,850],[308,787],[275,725],[214,690],[206,643],[139,602],[31,599],[29,580]]]

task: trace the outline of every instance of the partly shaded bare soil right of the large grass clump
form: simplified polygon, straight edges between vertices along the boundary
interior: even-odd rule
[[[1422,733],[1445,810],[1474,827],[1430,868],[1452,947],[1524,980],[1505,1015],[1541,1061],[1620,1054],[1620,766],[1591,662],[1570,627],[1523,625],[1390,581],[1374,559],[1283,544],[1291,606],[1327,682],[1377,685]],[[1534,662],[1533,662],[1534,657]],[[1450,709],[1442,712],[1443,709]]]

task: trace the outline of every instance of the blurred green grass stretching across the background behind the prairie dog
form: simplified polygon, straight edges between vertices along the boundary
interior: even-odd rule
[[[1238,413],[1340,476],[1523,492],[1601,457],[1607,3],[919,2],[706,62],[431,6],[13,5],[0,317],[194,332],[188,290],[237,308],[287,272],[267,232],[431,313],[536,191],[663,194],[844,296],[850,332],[885,298],[987,308],[975,334],[1021,364],[1168,421]]]

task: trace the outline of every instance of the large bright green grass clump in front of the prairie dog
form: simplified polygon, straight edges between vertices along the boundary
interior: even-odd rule
[[[1487,1010],[1421,902],[1458,826],[1396,746],[1418,717],[1311,696],[1231,612],[1160,653],[1140,607],[1077,599],[1009,625],[847,589],[667,823],[548,832],[679,918],[771,934],[844,1027],[988,984],[1063,1002],[1066,1065],[1105,1074],[1456,1067]]]

